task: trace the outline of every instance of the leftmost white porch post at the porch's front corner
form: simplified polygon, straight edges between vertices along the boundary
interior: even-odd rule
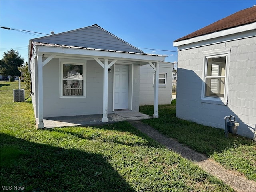
[[[38,78],[38,129],[44,128],[44,109],[43,109],[43,55],[37,54],[37,78]]]

